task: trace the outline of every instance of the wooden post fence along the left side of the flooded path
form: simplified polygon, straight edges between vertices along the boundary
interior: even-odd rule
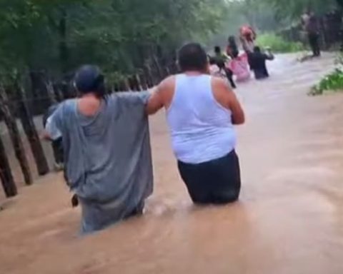
[[[117,83],[108,86],[108,93],[117,91],[143,91],[155,86],[162,78],[177,72],[177,64],[172,61],[167,65],[161,65],[157,59],[151,64],[144,66],[134,75],[128,76]],[[49,164],[39,138],[39,133],[34,123],[34,116],[43,114],[53,103],[64,101],[66,98],[74,98],[76,92],[69,75],[60,81],[51,81],[46,73],[31,71],[26,78],[30,84],[25,87],[21,84],[25,81],[14,81],[11,86],[0,83],[0,121],[6,125],[11,149],[14,151],[19,163],[24,183],[29,186],[34,183],[31,168],[28,161],[28,148],[25,148],[23,136],[20,133],[17,121],[21,123],[29,149],[34,158],[37,173],[44,176],[49,173]],[[6,197],[16,196],[18,187],[13,176],[13,166],[9,161],[8,146],[1,136],[0,126],[0,181]],[[6,153],[7,151],[7,153]]]

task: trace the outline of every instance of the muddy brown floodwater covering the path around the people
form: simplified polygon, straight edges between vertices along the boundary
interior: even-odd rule
[[[61,174],[4,204],[0,273],[342,274],[343,96],[306,95],[333,56],[279,56],[242,84],[242,198],[196,208],[177,173],[164,114],[151,118],[155,192],[142,218],[81,238]]]

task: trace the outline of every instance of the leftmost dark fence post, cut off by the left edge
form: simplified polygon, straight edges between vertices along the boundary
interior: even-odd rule
[[[9,166],[9,159],[6,156],[4,143],[0,137],[0,180],[4,188],[6,197],[16,196],[18,191],[16,190],[16,184],[11,173],[11,167]]]

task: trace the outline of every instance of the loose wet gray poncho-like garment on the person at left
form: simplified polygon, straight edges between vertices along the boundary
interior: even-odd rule
[[[82,205],[82,230],[89,233],[142,208],[153,191],[146,92],[116,93],[98,113],[79,113],[76,100],[61,104],[47,131],[62,135],[66,178]]]

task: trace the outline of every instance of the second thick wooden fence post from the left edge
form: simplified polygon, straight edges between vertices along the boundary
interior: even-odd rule
[[[23,141],[21,141],[18,126],[16,125],[16,118],[12,115],[11,109],[8,105],[9,101],[4,86],[0,85],[0,111],[4,116],[4,121],[9,129],[9,135],[13,143],[16,158],[19,161],[21,171],[23,172],[24,181],[26,185],[33,183],[29,162],[27,161]]]

